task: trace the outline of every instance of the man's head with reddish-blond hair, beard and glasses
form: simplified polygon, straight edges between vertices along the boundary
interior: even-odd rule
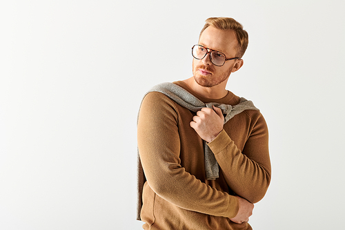
[[[239,70],[243,65],[241,57],[248,46],[248,34],[234,19],[209,18],[201,30],[198,45],[203,47],[201,51],[207,50],[208,52],[204,52],[204,57],[198,58],[196,56],[199,54],[193,49],[195,82],[204,87],[221,84],[225,88],[230,74]],[[213,50],[215,52],[211,55]],[[223,54],[227,61],[221,65],[216,58]]]

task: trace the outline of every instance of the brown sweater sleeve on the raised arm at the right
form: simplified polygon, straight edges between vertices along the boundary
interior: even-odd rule
[[[228,186],[252,203],[264,198],[271,173],[268,128],[264,117],[258,114],[254,119],[250,117],[250,133],[242,152],[224,130],[213,142],[208,143]]]

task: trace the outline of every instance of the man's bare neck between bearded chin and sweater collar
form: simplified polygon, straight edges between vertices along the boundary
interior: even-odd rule
[[[200,86],[197,84],[197,82],[195,82],[194,77],[190,77],[183,82],[186,83],[195,93],[201,95],[202,97],[220,99],[228,94],[228,90],[225,89],[227,81],[221,82],[221,84],[213,87]]]

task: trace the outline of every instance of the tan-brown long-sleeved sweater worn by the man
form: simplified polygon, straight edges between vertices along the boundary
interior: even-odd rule
[[[202,102],[235,105],[228,92],[221,99],[193,93]],[[195,113],[162,93],[148,93],[138,119],[138,148],[147,182],[142,194],[144,229],[251,229],[229,218],[239,195],[250,202],[264,197],[270,183],[268,128],[259,111],[244,111],[224,125],[208,146],[219,164],[219,178],[206,180],[204,146],[190,128]]]

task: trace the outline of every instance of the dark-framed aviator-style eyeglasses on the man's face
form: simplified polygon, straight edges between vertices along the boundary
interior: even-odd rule
[[[210,51],[208,51],[210,50]],[[240,59],[239,57],[233,58],[226,58],[224,53],[219,52],[217,50],[211,50],[210,48],[206,48],[205,46],[201,45],[194,45],[192,47],[192,55],[195,59],[203,59],[206,57],[207,54],[210,54],[210,60],[215,66],[223,66],[225,61],[233,60],[233,59]]]

